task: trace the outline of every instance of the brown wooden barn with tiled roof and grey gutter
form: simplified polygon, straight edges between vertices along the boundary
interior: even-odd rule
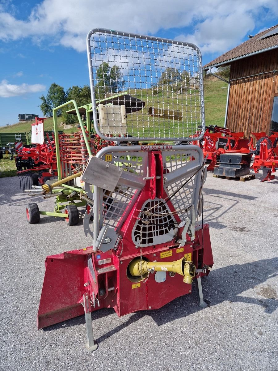
[[[231,66],[225,126],[232,131],[278,131],[278,25],[203,66]]]

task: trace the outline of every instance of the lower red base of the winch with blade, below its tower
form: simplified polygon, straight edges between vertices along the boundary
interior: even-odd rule
[[[179,296],[191,293],[191,285],[183,283],[182,276],[178,274],[167,277],[163,290],[161,283],[157,283],[152,274],[146,283],[130,281],[128,266],[138,256],[137,250],[133,254],[123,252],[118,257],[113,250],[94,252],[93,247],[47,256],[37,315],[38,328],[84,314],[83,293],[87,293],[90,298],[93,298],[93,293],[103,293],[98,297],[100,305],[89,307],[91,312],[100,308],[114,308],[118,316],[158,309]],[[153,246],[148,251],[144,250],[143,256],[157,262],[178,260],[183,256],[190,260],[192,257],[196,267],[205,265],[211,268],[214,262],[208,224],[204,224],[203,229],[196,232],[195,240],[184,247],[177,247],[176,244]],[[198,273],[195,278],[208,273],[209,270]]]

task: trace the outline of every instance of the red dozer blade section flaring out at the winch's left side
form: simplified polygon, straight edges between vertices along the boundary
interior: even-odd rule
[[[84,267],[92,247],[47,256],[37,315],[38,329],[84,314]]]

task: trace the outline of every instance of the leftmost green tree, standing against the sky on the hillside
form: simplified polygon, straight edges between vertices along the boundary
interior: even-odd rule
[[[40,109],[44,116],[53,116],[52,108],[60,106],[66,102],[66,94],[64,92],[63,86],[53,83],[50,85],[46,97],[44,95],[40,96],[42,104]],[[58,109],[57,116],[62,114],[62,109]]]

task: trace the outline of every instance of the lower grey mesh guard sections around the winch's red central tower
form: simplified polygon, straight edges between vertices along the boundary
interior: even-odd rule
[[[111,152],[113,164],[123,167],[124,171],[142,177],[148,176],[148,153],[141,151],[115,153]],[[142,212],[133,227],[132,239],[135,244],[146,247],[164,243],[173,239],[176,228],[182,221],[192,218],[192,210],[197,215],[199,190],[201,187],[201,161],[197,151],[163,151],[163,167],[166,180],[164,190],[166,198],[146,200]],[[165,178],[165,179],[166,179]],[[103,203],[100,204],[100,224],[110,225],[119,230],[129,216],[130,210],[138,199],[140,187],[121,184],[121,178],[114,191],[102,190]],[[170,201],[174,210],[171,211],[166,201]],[[142,224],[144,211],[152,210],[150,224]],[[172,209],[173,210],[173,209]]]

